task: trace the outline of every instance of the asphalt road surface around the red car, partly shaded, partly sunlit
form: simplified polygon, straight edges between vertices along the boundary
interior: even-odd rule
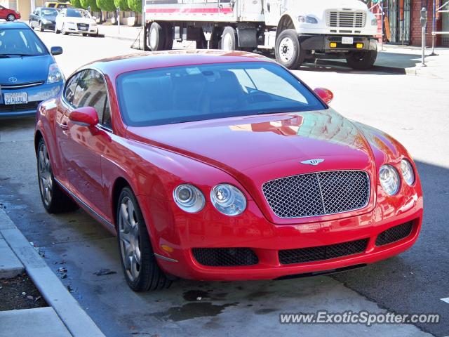
[[[128,41],[39,33],[68,76],[90,60],[133,53]],[[299,76],[335,93],[346,117],[382,128],[417,161],[424,186],[420,239],[400,256],[332,277],[266,282],[181,280],[166,291],[133,293],[121,274],[116,238],[83,211],[50,216],[36,180],[33,119],[0,121],[0,206],[70,287],[107,336],[449,335],[448,81],[308,67]],[[113,274],[97,276],[100,269]],[[432,312],[437,325],[281,325],[280,312]]]

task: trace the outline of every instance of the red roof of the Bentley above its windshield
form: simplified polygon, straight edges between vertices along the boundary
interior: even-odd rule
[[[274,62],[263,55],[242,51],[183,50],[140,52],[113,58],[104,58],[85,65],[95,68],[114,79],[125,72],[184,65],[211,65],[231,62]]]

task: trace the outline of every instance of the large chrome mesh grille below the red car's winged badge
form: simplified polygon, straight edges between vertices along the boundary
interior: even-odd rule
[[[262,192],[279,218],[324,216],[361,209],[370,198],[363,171],[328,171],[271,180]]]

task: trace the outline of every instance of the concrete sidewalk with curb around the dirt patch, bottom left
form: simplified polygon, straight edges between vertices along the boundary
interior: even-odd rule
[[[51,308],[0,312],[0,336],[104,336],[0,209],[0,278],[15,277],[24,270]]]

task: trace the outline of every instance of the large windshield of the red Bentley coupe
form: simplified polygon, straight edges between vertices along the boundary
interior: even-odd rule
[[[326,109],[290,72],[269,62],[128,72],[118,77],[117,91],[128,126]]]

